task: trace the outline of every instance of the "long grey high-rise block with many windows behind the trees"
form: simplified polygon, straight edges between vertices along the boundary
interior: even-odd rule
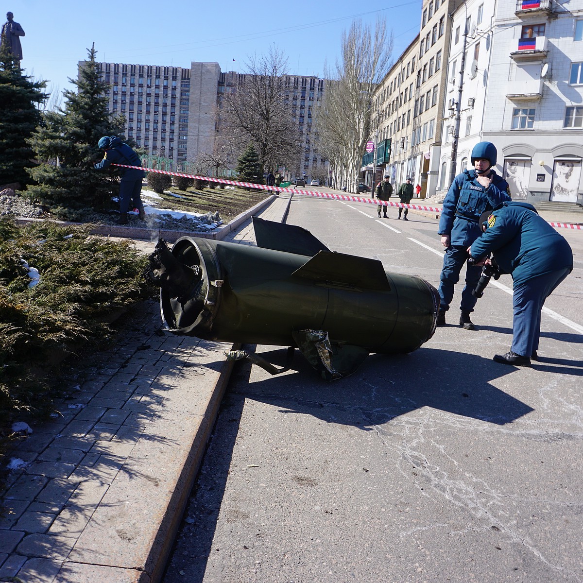
[[[103,80],[111,85],[106,91],[109,111],[125,115],[128,138],[147,154],[170,159],[176,168],[201,152],[212,152],[222,96],[245,79],[243,73],[221,72],[213,62],[191,62],[190,68],[121,63],[100,67]],[[301,160],[288,175],[326,175],[328,163],[312,132],[324,79],[286,75],[284,80],[303,146]]]

